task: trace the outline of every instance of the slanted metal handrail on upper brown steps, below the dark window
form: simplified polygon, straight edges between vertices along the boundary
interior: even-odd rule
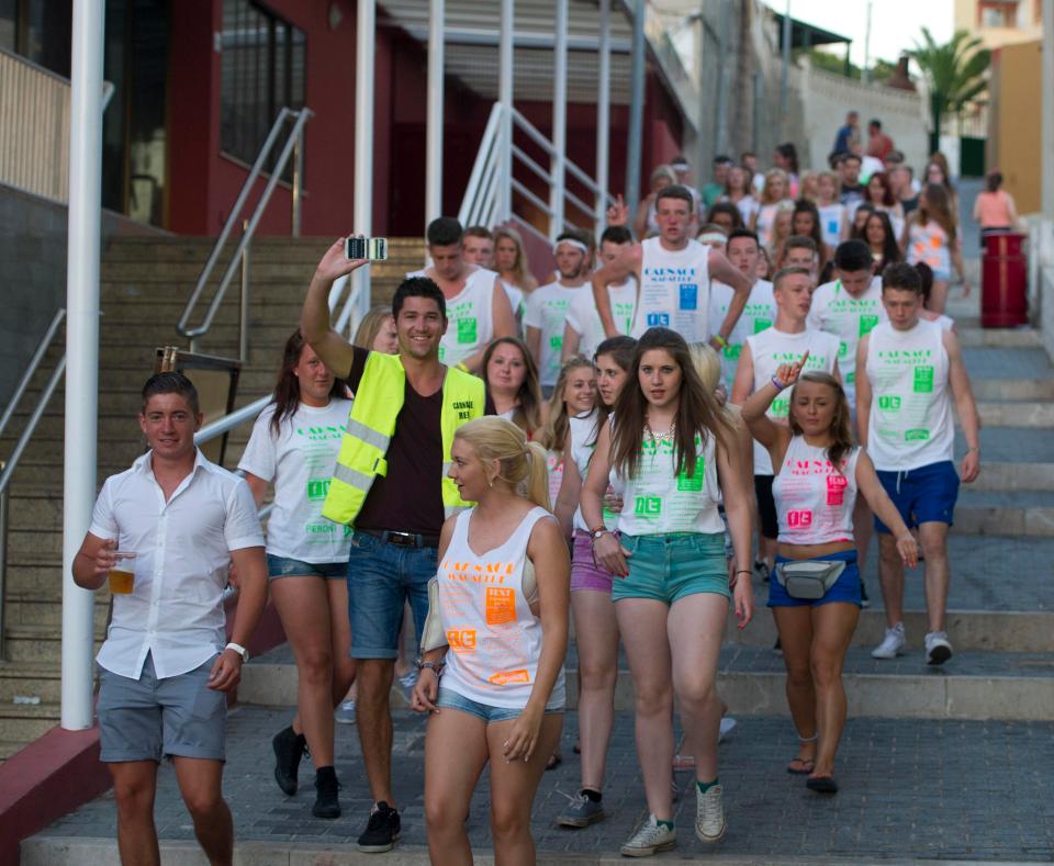
[[[293,234],[295,235],[299,233],[302,196],[300,187],[302,185],[303,179],[303,171],[301,167],[302,140],[304,125],[313,115],[314,112],[307,108],[303,108],[300,111],[293,111],[292,109],[283,108],[278,113],[278,117],[274,121],[274,124],[271,126],[271,131],[268,133],[267,139],[264,142],[264,146],[260,148],[260,153],[256,158],[256,162],[253,164],[253,168],[249,170],[249,175],[245,179],[245,183],[242,185],[242,191],[238,193],[238,198],[235,200],[234,206],[231,209],[231,215],[227,217],[227,222],[224,223],[223,230],[220,233],[220,237],[216,238],[216,243],[212,248],[212,252],[209,255],[209,259],[205,261],[205,267],[202,269],[201,275],[198,278],[194,290],[187,300],[187,305],[183,307],[183,314],[180,316],[179,323],[176,325],[176,330],[179,331],[179,334],[181,334],[183,337],[188,337],[190,339],[191,351],[198,350],[199,337],[202,337],[212,327],[212,320],[215,318],[216,312],[220,308],[220,304],[223,303],[223,297],[226,294],[227,286],[229,286],[235,272],[238,270],[239,263],[243,260],[243,254],[247,249],[249,243],[253,240],[253,235],[256,233],[256,226],[260,222],[264,211],[267,209],[268,202],[271,199],[271,193],[274,192],[274,188],[278,185],[279,178],[281,177],[282,171],[285,170],[285,165],[289,162],[289,158],[293,154],[294,149],[296,150],[296,167],[293,171]],[[238,247],[231,259],[231,263],[227,266],[226,271],[224,271],[223,279],[220,281],[220,285],[217,286],[216,293],[212,299],[212,303],[209,305],[209,310],[205,312],[205,317],[198,327],[189,327],[190,317],[198,304],[198,299],[201,297],[201,293],[204,291],[205,284],[209,282],[209,278],[212,277],[212,270],[215,268],[216,262],[220,259],[220,255],[223,251],[223,247],[227,243],[227,237],[231,235],[231,229],[237,224],[242,209],[245,206],[257,178],[259,178],[260,173],[264,171],[264,164],[267,161],[268,156],[270,156],[271,148],[278,140],[282,126],[288,120],[293,117],[296,119],[295,123],[293,123],[293,128],[289,132],[289,137],[285,139],[285,145],[278,157],[277,164],[271,170],[271,176],[268,179],[267,187],[264,189],[264,194],[260,195],[260,200],[257,202],[256,210],[253,212],[253,216],[249,217],[245,232],[242,235],[242,240],[238,243]],[[245,330],[247,323],[243,320],[240,323],[240,327],[242,330]]]

